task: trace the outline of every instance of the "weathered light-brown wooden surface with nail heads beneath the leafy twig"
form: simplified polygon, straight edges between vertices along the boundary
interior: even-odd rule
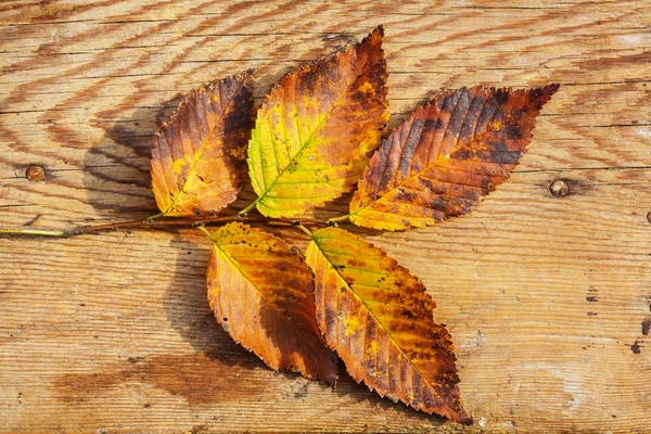
[[[151,137],[182,93],[255,67],[259,102],[290,67],[381,23],[391,127],[441,88],[562,84],[512,179],[470,216],[358,231],[436,299],[467,430],[649,430],[647,0],[4,0],[0,225],[154,214]],[[44,181],[26,179],[31,165]],[[569,195],[550,194],[557,179]],[[208,252],[192,230],[0,240],[0,431],[461,430],[345,373],[332,391],[267,369],[212,318]]]

